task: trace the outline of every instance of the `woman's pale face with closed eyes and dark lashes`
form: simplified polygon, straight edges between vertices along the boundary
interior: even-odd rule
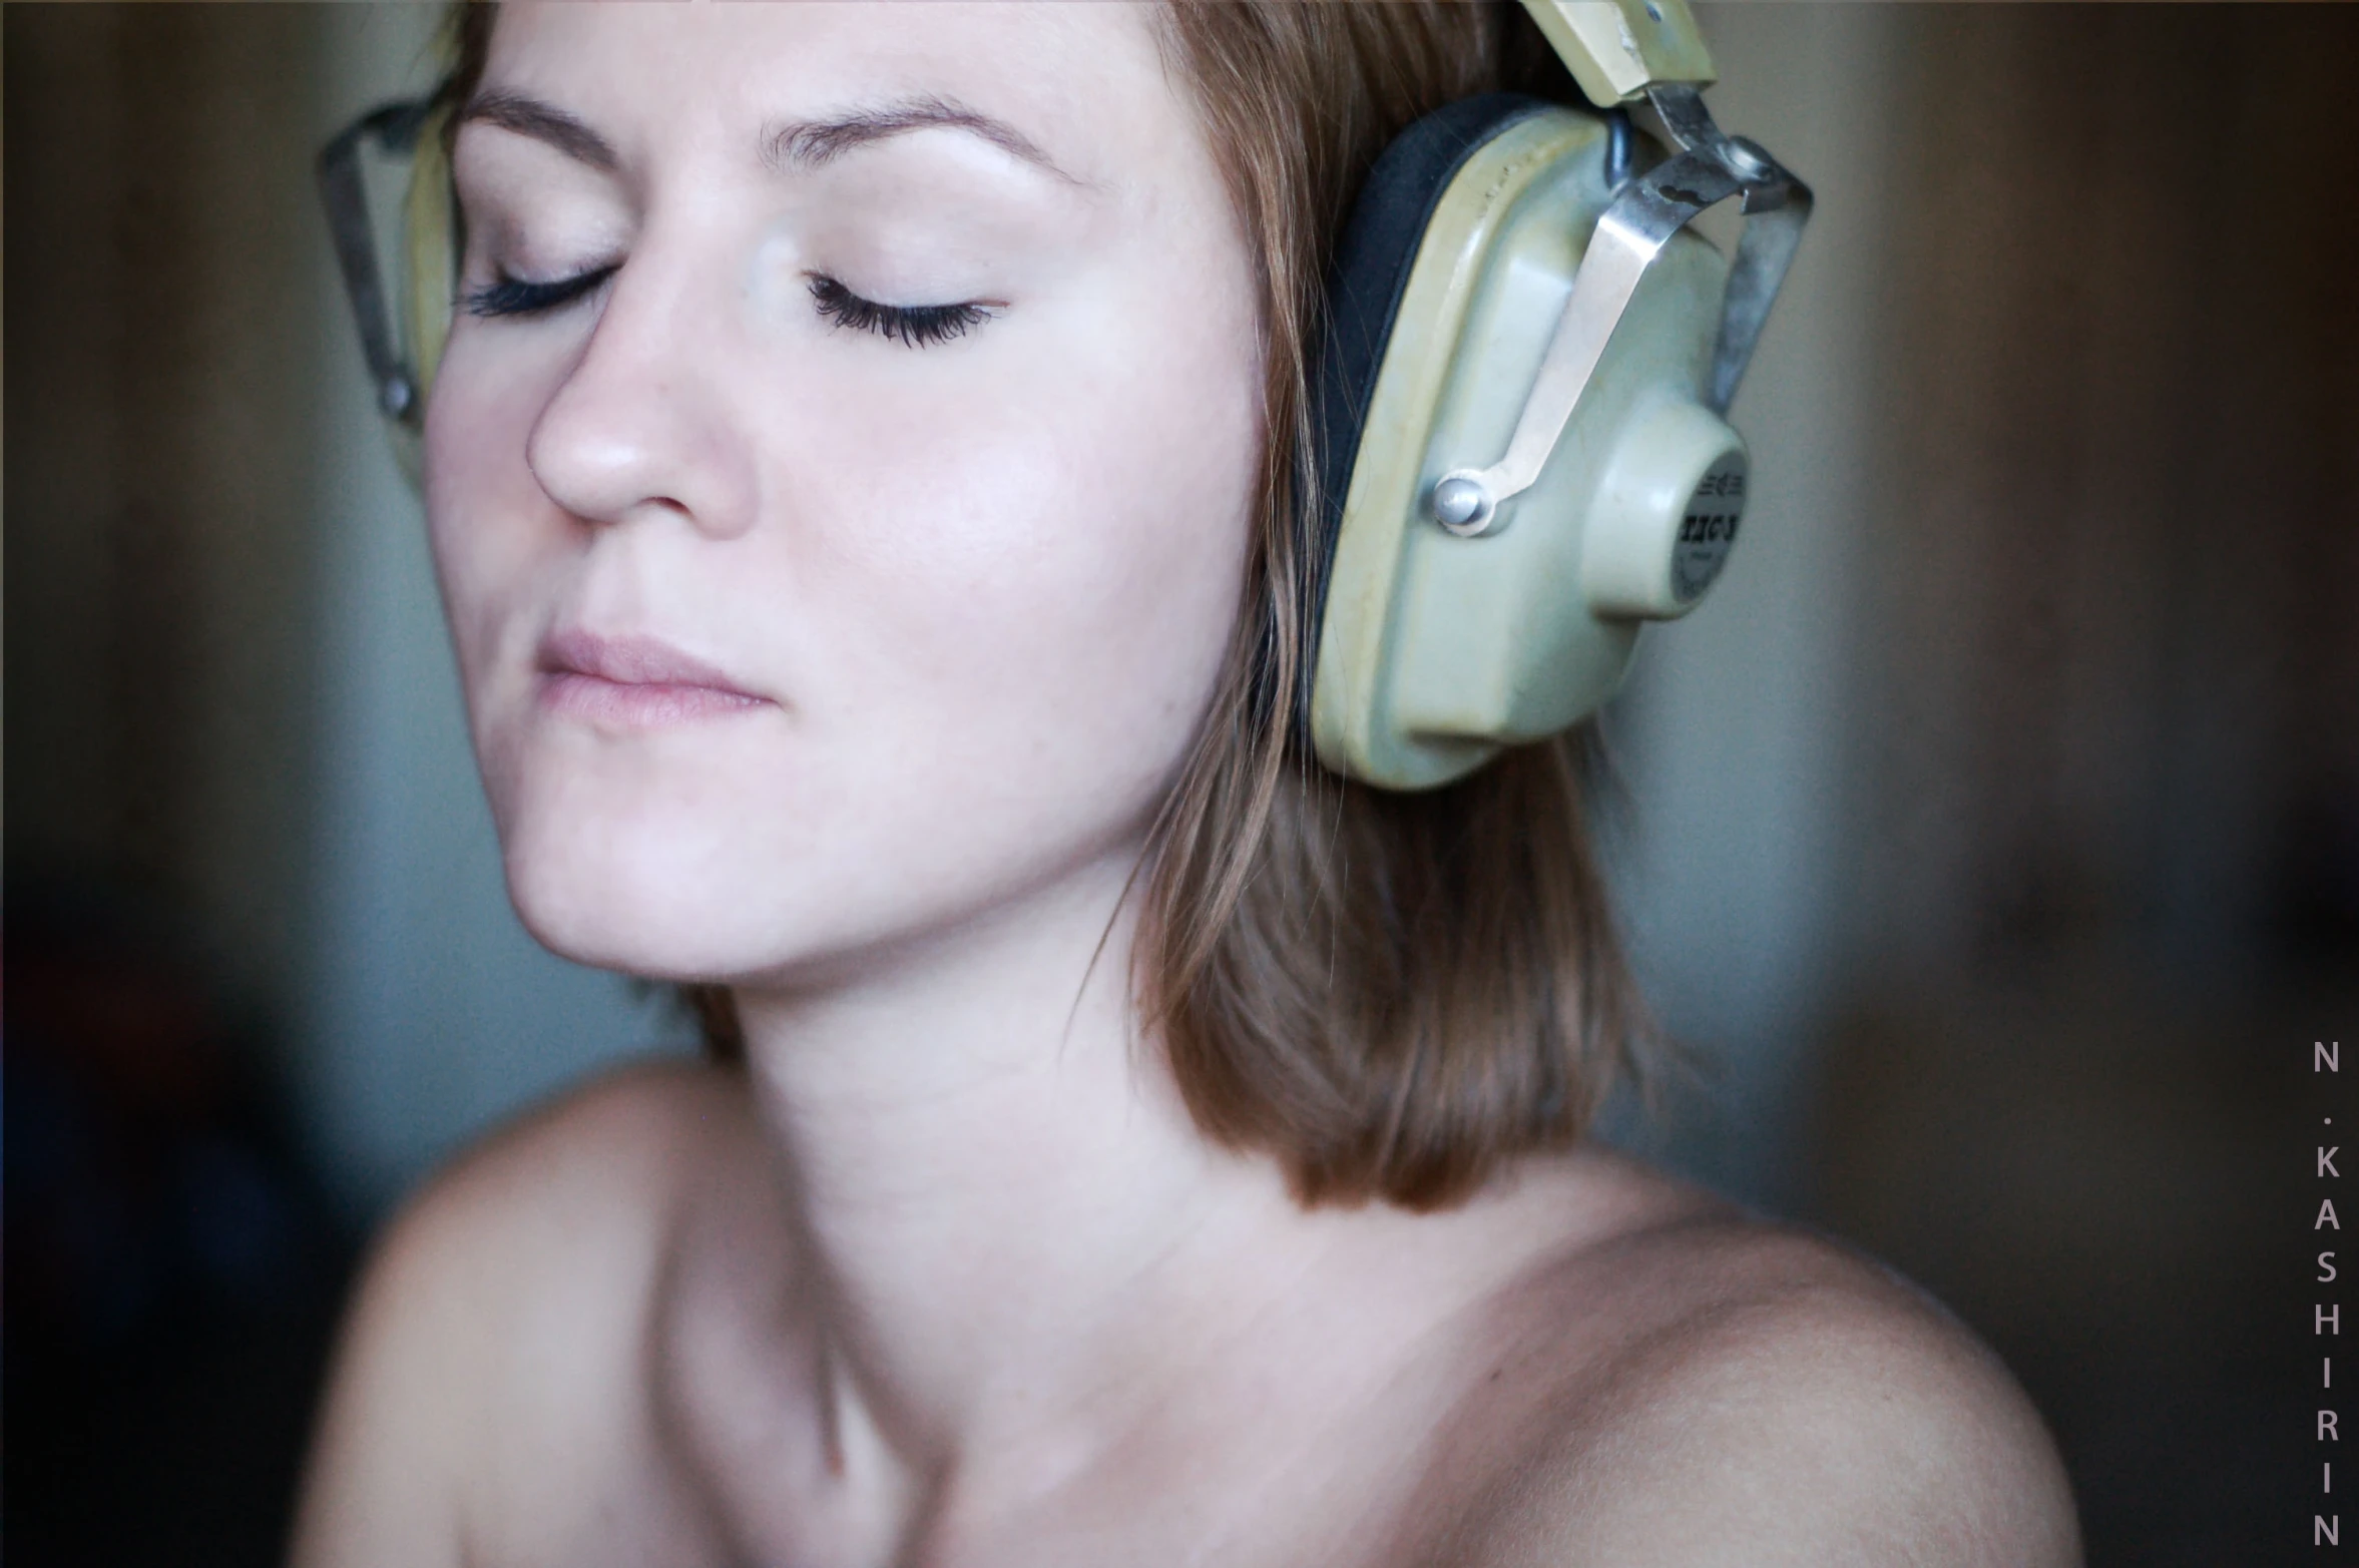
[[[1260,457],[1151,7],[507,7],[427,505],[526,924],[788,976],[1125,865]]]

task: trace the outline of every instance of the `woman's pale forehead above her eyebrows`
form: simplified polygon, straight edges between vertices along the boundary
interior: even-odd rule
[[[778,125],[946,101],[1090,184],[1194,153],[1161,52],[1163,0],[757,0],[505,5],[486,92],[561,106],[623,163],[760,153]]]

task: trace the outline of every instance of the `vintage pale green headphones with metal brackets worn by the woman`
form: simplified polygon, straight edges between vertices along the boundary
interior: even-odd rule
[[[1713,125],[1684,0],[1524,0],[1599,113],[1493,92],[1375,160],[1328,285],[1300,724],[1389,790],[1460,778],[1578,724],[1640,625],[1710,587],[1746,507],[1724,415],[1809,217],[1809,189]],[[1625,106],[1663,158],[1637,167]],[[361,344],[415,474],[458,299],[458,222],[432,101],[321,153]],[[361,144],[413,156],[399,321]],[[1739,200],[1734,259],[1689,231]]]

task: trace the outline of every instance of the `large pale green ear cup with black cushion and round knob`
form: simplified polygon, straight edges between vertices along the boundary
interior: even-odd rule
[[[1408,174],[1354,212],[1335,274],[1307,729],[1326,766],[1389,790],[1595,712],[1640,622],[1710,582],[1743,500],[1743,443],[1708,408],[1727,262],[1675,233],[1538,479],[1486,531],[1434,521],[1441,474],[1507,450],[1621,170],[1597,116],[1517,108],[1441,111],[1465,116],[1434,130],[1453,158],[1404,132]]]

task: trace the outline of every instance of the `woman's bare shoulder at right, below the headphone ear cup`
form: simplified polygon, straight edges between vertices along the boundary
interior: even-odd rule
[[[1614,1165],[1632,1224],[1512,1306],[1517,1377],[1545,1394],[1474,1561],[2081,1561],[2055,1443],[1963,1323],[1847,1247]]]

